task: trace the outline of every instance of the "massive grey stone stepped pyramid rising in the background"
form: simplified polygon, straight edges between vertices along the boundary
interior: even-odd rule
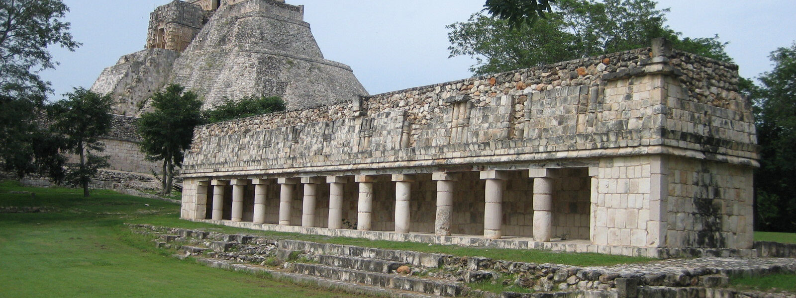
[[[197,92],[203,109],[248,95],[280,96],[291,110],[368,95],[351,68],[323,58],[303,15],[279,0],[170,2],[150,15],[146,49],[106,68],[92,91],[130,116],[168,83]]]

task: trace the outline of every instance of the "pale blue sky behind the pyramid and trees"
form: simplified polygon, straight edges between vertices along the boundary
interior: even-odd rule
[[[144,49],[149,14],[170,0],[64,0],[75,52],[53,47],[60,62],[41,72],[53,83],[50,100],[72,87],[91,87],[103,68]],[[349,65],[371,95],[465,79],[474,60],[449,58],[446,25],[466,21],[484,0],[287,0],[305,6],[304,21],[328,60]],[[768,55],[796,40],[793,0],[659,0],[669,27],[683,37],[728,41],[743,77],[771,70]]]

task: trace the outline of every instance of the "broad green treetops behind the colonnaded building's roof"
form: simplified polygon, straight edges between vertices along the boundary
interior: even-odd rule
[[[657,10],[652,0],[557,0],[547,21],[511,29],[500,17],[473,14],[451,29],[451,57],[470,56],[477,75],[506,72],[559,61],[575,60],[650,45],[656,37],[673,41],[675,48],[729,61],[718,36],[679,38],[665,26],[668,9]]]

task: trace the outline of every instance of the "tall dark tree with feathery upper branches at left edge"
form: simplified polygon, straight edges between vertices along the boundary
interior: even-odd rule
[[[62,178],[58,150],[39,145],[56,140],[38,126],[50,88],[37,73],[57,65],[48,46],[74,51],[80,45],[72,41],[69,23],[59,21],[67,12],[60,0],[0,2],[0,161],[19,176],[46,172]]]

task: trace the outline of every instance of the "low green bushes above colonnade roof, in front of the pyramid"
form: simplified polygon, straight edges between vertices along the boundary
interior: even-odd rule
[[[205,110],[203,118],[209,123],[245,118],[285,110],[285,102],[279,97],[248,96],[240,100],[224,98],[224,102],[213,110]]]

